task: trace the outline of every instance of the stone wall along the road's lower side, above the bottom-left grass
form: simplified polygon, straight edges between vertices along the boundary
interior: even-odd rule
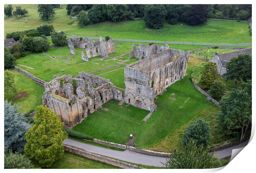
[[[133,164],[128,164],[128,163],[123,162],[123,161],[119,161],[119,160],[116,160],[116,159],[111,159],[109,157],[101,156],[99,154],[94,154],[92,152],[88,152],[88,151],[83,150],[83,149],[78,148],[78,147],[72,147],[72,146],[66,145],[66,144],[63,144],[63,147],[64,147],[64,150],[66,152],[71,152],[71,153],[74,153],[74,154],[78,154],[79,156],[83,156],[83,157],[86,157],[86,158],[89,158],[89,159],[92,159],[92,160],[100,161],[100,162],[103,162],[103,163],[106,163],[106,164],[111,164],[111,165],[117,166],[119,168],[125,168],[125,169],[141,168],[139,166],[136,166],[136,165],[133,165]]]

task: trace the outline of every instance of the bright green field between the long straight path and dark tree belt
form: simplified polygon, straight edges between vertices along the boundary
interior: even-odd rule
[[[144,21],[102,22],[85,28],[67,30],[66,33],[79,36],[106,36],[113,38],[157,40],[201,43],[251,43],[247,22],[209,20],[199,26],[185,23],[171,25],[155,30],[147,28]]]

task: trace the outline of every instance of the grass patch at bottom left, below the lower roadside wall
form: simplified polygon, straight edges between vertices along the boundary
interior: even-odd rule
[[[51,169],[116,169],[118,167],[91,160],[77,154],[64,152],[61,159],[55,161]]]

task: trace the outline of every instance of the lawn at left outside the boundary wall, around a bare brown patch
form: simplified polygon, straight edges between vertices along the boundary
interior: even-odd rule
[[[28,92],[28,96],[13,100],[12,98],[8,98],[8,100],[12,100],[13,103],[17,103],[21,110],[19,112],[31,112],[34,110],[36,106],[42,105],[42,96],[44,92],[44,87],[36,84],[29,77],[21,74],[17,70],[11,70],[15,74],[15,81],[18,88],[18,92]]]

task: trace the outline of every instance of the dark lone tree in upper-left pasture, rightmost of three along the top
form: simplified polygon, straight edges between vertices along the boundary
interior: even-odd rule
[[[39,17],[43,20],[49,20],[56,14],[50,4],[38,4],[37,12],[39,13]]]

